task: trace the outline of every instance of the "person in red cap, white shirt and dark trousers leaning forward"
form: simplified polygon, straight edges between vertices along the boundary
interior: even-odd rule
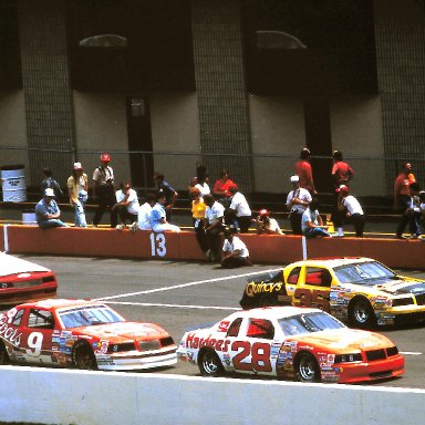
[[[349,186],[341,185],[338,189],[339,198],[338,198],[338,209],[341,211],[342,217],[348,221],[351,221],[354,226],[355,236],[357,238],[363,238],[363,229],[364,229],[364,212],[363,208],[360,205],[357,198],[353,195],[350,195]],[[343,220],[340,222],[334,222],[336,227],[336,236],[343,237]]]

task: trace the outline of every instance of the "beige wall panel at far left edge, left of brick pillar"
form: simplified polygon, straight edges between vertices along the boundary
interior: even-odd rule
[[[30,160],[22,90],[0,92],[0,166],[23,164],[28,174]]]

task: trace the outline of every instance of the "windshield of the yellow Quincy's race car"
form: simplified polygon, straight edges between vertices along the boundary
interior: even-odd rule
[[[335,267],[333,271],[341,283],[371,284],[375,280],[397,278],[392,270],[376,261],[340,266]]]

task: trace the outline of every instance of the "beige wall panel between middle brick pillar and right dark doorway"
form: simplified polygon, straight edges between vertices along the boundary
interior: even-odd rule
[[[249,96],[255,190],[290,190],[294,158],[305,146],[301,99]]]

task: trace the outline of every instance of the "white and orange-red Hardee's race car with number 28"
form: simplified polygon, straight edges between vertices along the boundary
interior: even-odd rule
[[[386,336],[297,307],[239,311],[211,328],[186,332],[177,355],[210,376],[238,372],[355,383],[404,373],[404,359]]]

